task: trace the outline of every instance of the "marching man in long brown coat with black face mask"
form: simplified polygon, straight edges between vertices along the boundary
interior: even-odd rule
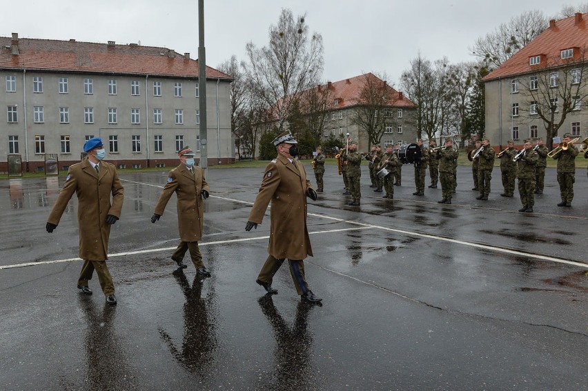
[[[313,255],[306,226],[306,197],[316,200],[317,194],[306,178],[304,166],[294,159],[298,154],[296,144],[288,131],[273,140],[277,157],[266,167],[245,230],[250,231],[262,223],[271,201],[269,255],[255,282],[266,292],[277,294],[277,290],[271,287],[273,276],[288,259],[292,280],[301,299],[318,303],[322,299],[308,288],[304,275],[304,259]]]

